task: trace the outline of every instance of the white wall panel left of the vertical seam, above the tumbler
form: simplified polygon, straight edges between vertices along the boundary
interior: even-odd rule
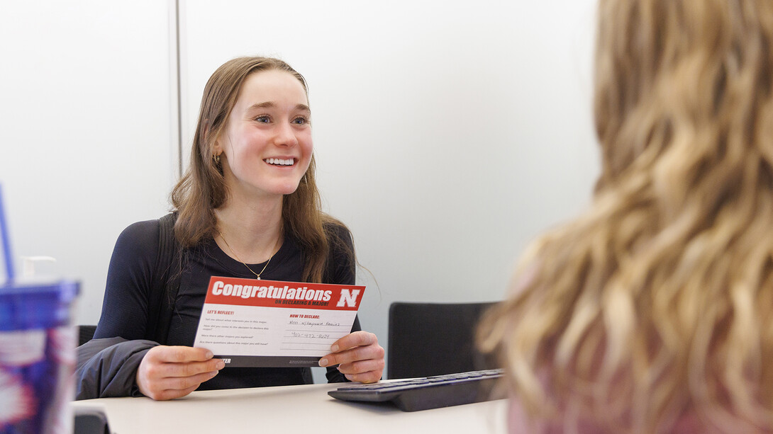
[[[12,246],[57,259],[39,273],[80,280],[77,321],[96,324],[115,239],[165,212],[176,177],[169,7],[43,0],[3,1],[0,11],[0,183]]]

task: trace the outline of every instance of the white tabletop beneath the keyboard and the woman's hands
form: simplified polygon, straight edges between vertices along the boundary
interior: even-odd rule
[[[327,392],[339,385],[298,385],[193,392],[172,401],[101,398],[73,402],[104,409],[114,434],[142,432],[506,432],[506,400],[421,412],[342,402]]]

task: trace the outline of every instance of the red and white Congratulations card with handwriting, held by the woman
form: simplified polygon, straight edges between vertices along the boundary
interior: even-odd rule
[[[315,366],[352,330],[365,287],[213,276],[194,347],[226,366]]]

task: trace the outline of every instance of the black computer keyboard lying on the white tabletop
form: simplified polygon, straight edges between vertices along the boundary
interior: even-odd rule
[[[497,399],[492,395],[492,389],[500,378],[502,369],[487,369],[369,385],[346,385],[328,392],[328,395],[344,401],[393,402],[404,412],[415,412]]]

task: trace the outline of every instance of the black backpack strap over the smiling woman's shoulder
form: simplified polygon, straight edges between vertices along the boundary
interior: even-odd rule
[[[145,337],[159,344],[165,344],[169,335],[182,274],[182,251],[175,240],[176,221],[176,212],[158,219],[158,259],[151,282]]]

